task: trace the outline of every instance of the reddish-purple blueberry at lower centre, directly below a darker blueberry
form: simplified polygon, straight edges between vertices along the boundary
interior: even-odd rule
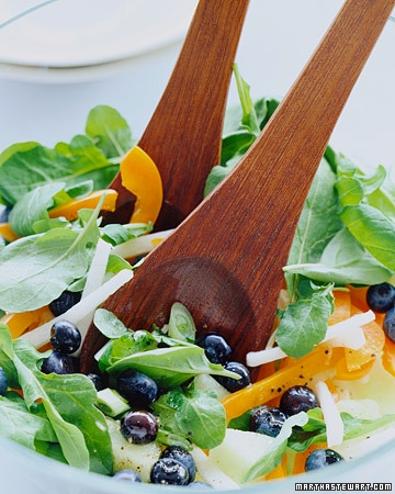
[[[149,412],[127,412],[121,418],[121,433],[129,442],[147,445],[156,439],[158,423]]]

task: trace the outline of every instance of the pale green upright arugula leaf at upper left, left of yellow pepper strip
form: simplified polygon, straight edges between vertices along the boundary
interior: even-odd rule
[[[10,212],[11,228],[21,236],[35,234],[34,224],[37,221],[49,221],[47,209],[52,205],[54,195],[64,187],[63,182],[47,183],[23,195]]]

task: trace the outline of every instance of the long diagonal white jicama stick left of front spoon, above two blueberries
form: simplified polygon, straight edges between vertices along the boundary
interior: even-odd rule
[[[102,304],[110,295],[116,292],[122,285],[132,280],[133,271],[129,269],[124,269],[117,272],[111,280],[106,281],[104,284],[99,287],[92,293],[81,299],[78,304],[74,305],[67,312],[60,316],[54,317],[52,321],[36,327],[30,333],[21,336],[25,338],[36,347],[41,348],[49,341],[50,327],[56,321],[68,319],[70,323],[77,324],[83,319],[88,314],[94,311],[100,304]]]

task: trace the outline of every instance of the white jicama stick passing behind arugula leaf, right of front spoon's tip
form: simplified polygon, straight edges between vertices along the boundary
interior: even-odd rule
[[[358,350],[366,343],[361,326],[369,324],[374,319],[375,315],[372,311],[368,311],[363,314],[356,314],[348,319],[328,326],[321,343],[328,343],[332,347],[346,347]],[[285,357],[287,357],[287,355],[282,351],[280,347],[272,347],[260,351],[250,351],[246,356],[246,361],[248,367],[258,367]]]

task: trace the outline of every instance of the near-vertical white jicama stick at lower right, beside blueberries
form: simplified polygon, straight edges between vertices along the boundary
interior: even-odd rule
[[[319,406],[323,411],[328,448],[341,445],[345,434],[345,425],[327,384],[324,381],[318,381],[314,386],[314,391],[316,392]]]

